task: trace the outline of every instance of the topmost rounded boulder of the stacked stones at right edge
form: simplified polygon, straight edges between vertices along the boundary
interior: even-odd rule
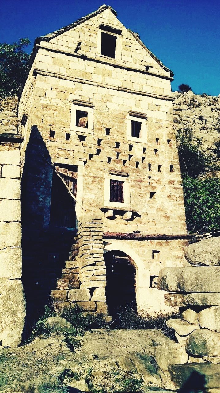
[[[209,237],[185,248],[185,258],[198,266],[220,265],[220,237]]]

